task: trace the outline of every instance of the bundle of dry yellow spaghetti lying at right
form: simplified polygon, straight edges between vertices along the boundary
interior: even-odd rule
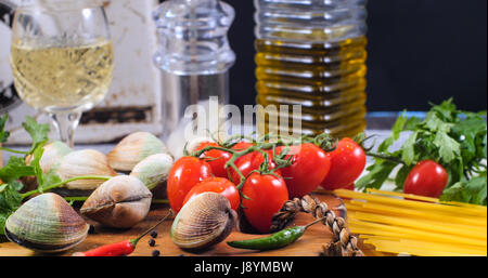
[[[351,233],[377,251],[427,255],[487,255],[487,208],[400,193],[336,190]]]

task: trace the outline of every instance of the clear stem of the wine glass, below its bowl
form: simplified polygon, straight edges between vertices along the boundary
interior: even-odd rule
[[[49,116],[60,133],[60,141],[73,148],[75,146],[75,130],[81,119],[81,112],[55,112]]]

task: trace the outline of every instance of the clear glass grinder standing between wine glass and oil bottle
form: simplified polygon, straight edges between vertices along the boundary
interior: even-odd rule
[[[219,131],[218,111],[229,101],[229,69],[235,62],[227,38],[233,19],[233,8],[219,0],[167,0],[154,12],[164,138],[177,157],[189,136]]]

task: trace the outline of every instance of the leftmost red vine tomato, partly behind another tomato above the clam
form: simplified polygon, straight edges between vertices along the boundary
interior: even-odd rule
[[[172,210],[180,211],[184,197],[193,186],[210,176],[210,166],[198,158],[182,157],[176,161],[167,181],[168,199]]]

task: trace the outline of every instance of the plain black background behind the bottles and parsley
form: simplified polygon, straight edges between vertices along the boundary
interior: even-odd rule
[[[254,4],[226,2],[236,12],[231,103],[254,104]],[[370,0],[368,12],[370,111],[427,110],[451,96],[462,109],[486,109],[486,0]]]

